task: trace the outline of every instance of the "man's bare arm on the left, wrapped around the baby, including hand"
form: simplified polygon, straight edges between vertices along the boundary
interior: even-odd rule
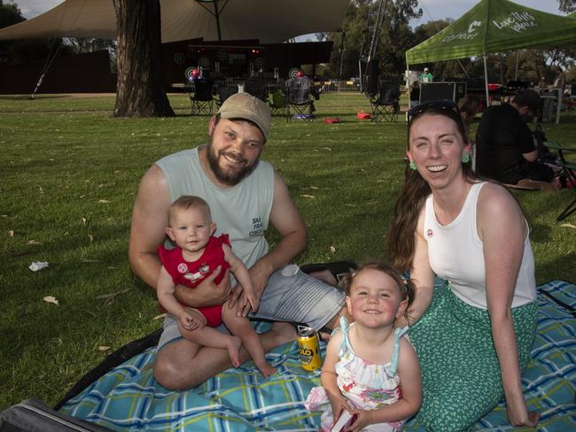
[[[160,275],[160,260],[156,250],[166,235],[170,191],[166,177],[159,166],[153,165],[140,182],[130,225],[128,259],[132,271],[144,282],[156,289]],[[219,285],[214,278],[215,271],[196,289],[176,285],[175,297],[178,301],[193,307],[222,305],[230,294],[228,272]]]

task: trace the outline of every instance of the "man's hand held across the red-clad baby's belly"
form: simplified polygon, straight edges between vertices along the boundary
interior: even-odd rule
[[[222,281],[214,283],[214,279],[222,272],[222,266],[217,266],[212,274],[198,284],[195,289],[178,285],[175,291],[175,297],[184,305],[191,307],[206,307],[223,305],[230,297],[230,269],[224,272]]]

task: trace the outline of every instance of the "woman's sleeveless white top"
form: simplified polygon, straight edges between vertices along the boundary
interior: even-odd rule
[[[433,197],[430,195],[424,210],[423,234],[428,243],[432,271],[450,282],[455,295],[464,302],[486,309],[486,268],[483,245],[476,227],[476,205],[484,184],[486,182],[472,185],[462,211],[446,226],[436,220]],[[494,223],[498,221],[494,220]],[[512,307],[531,303],[535,298],[534,257],[529,236],[526,235]]]

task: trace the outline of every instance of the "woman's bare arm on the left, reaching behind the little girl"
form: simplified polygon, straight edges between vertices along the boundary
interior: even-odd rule
[[[409,320],[401,317],[396,320],[398,327],[414,325],[417,320],[426,312],[432,302],[434,289],[434,272],[428,259],[428,243],[424,240],[424,209],[420,212],[416,228],[416,249],[412,258],[412,268],[410,270],[410,279],[416,287],[416,297],[409,307]]]

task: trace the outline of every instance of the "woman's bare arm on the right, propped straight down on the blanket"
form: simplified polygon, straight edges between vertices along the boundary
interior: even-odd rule
[[[540,414],[528,413],[525,405],[511,312],[527,235],[525,218],[510,194],[494,184],[486,184],[480,192],[477,217],[479,236],[484,244],[487,308],[508,420],[513,426],[535,426]]]

